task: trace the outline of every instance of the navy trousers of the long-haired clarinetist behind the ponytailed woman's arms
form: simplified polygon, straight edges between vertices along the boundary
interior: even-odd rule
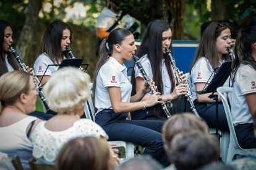
[[[163,119],[159,119],[159,118],[155,118],[151,113],[150,110],[148,108],[146,108],[145,110],[137,110],[134,111],[135,115],[134,115],[134,119],[135,120],[157,120],[157,121],[166,121],[166,117],[164,116],[163,111],[160,111],[159,115],[161,118]]]

